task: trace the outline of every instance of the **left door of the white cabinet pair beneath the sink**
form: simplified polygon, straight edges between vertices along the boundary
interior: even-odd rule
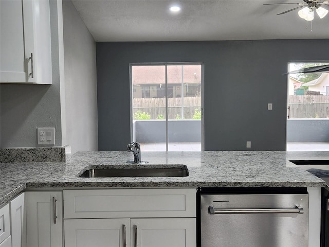
[[[64,220],[65,247],[130,247],[130,219]]]

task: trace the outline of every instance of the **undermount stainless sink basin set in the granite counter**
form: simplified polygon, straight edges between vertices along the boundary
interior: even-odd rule
[[[187,177],[186,165],[154,165],[154,166],[110,166],[92,168],[84,171],[80,178],[116,178],[116,177]]]

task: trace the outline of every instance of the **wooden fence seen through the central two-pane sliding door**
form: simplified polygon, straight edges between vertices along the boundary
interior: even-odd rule
[[[182,98],[168,98],[168,119],[192,119],[195,109],[201,110],[201,97],[184,97],[184,118],[181,117],[181,105]],[[150,114],[151,119],[166,117],[166,98],[135,98],[133,106],[133,114],[141,111]]]

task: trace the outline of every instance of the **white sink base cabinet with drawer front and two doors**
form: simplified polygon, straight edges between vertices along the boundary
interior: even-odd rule
[[[193,188],[64,190],[65,247],[195,247]]]

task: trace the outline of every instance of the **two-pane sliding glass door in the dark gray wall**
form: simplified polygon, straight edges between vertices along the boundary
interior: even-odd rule
[[[144,151],[201,151],[202,64],[131,64],[132,140]]]

